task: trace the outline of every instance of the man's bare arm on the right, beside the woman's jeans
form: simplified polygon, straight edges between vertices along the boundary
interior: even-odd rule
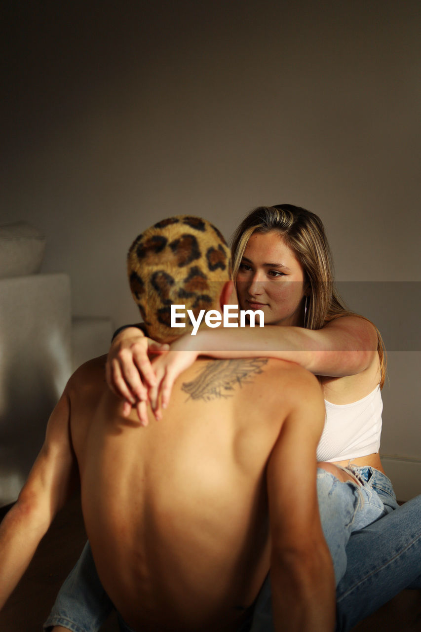
[[[312,375],[300,371],[296,386],[288,394],[291,412],[267,467],[274,627],[329,632],[335,621],[335,582],[317,506],[315,454],[325,410]]]

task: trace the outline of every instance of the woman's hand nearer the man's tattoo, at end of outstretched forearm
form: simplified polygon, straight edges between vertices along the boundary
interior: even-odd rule
[[[149,401],[157,420],[162,418],[162,409],[167,408],[173,384],[178,376],[197,360],[199,351],[190,334],[181,336],[172,343],[168,353],[152,360],[156,384],[149,388]]]

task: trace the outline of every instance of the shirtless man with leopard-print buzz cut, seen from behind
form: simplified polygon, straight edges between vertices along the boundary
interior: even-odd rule
[[[231,294],[229,250],[207,222],[181,216],[159,226],[164,241],[152,227],[133,244],[130,283],[150,335],[171,341],[186,329],[168,327],[165,309],[155,318],[154,291],[168,307],[181,288],[186,298],[177,302],[197,306],[192,269],[202,300],[206,253],[219,275],[207,284],[207,309],[221,311]],[[197,245],[194,265],[186,236]],[[165,285],[169,277],[175,283]],[[187,277],[190,285],[180,280]],[[69,380],[0,526],[0,607],[78,470],[99,578],[131,628],[246,630],[270,567],[275,629],[333,629],[333,566],[315,486],[324,423],[317,380],[279,360],[199,358],[174,384],[162,420],[148,411],[149,424],[140,428],[137,412],[123,416],[124,404],[109,391],[105,360],[85,363]]]

